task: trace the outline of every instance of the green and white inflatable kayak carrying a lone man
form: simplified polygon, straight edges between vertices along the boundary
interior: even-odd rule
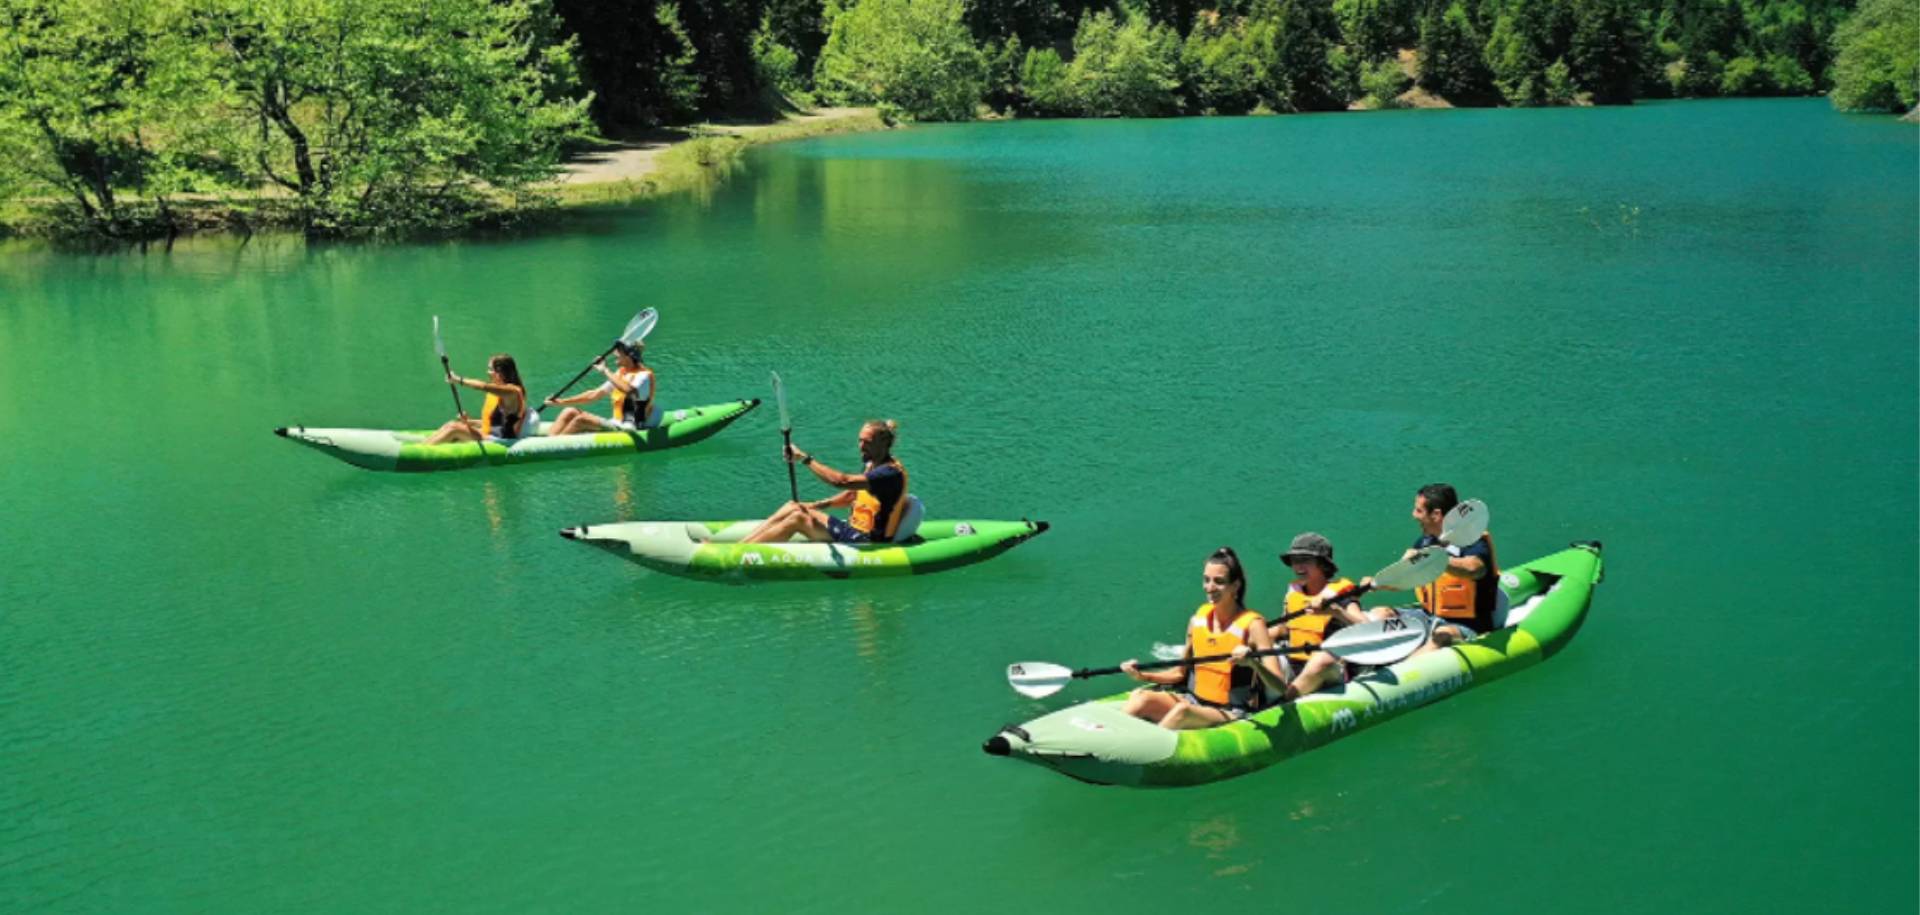
[[[758,524],[591,524],[561,537],[674,575],[745,581],[924,575],[998,556],[1046,531],[1046,522],[924,522],[902,543],[739,543]]]

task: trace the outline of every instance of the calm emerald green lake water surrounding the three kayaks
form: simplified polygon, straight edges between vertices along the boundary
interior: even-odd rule
[[[1920,140],[1822,100],[925,127],[507,242],[0,253],[0,911],[1914,911]],[[768,397],[933,516],[1054,529],[724,587],[555,537],[785,499],[772,409],[390,476],[271,428],[566,380]],[[993,760],[1016,660],[1365,574],[1421,483],[1571,648],[1190,790]],[[814,495],[826,495],[820,487]]]

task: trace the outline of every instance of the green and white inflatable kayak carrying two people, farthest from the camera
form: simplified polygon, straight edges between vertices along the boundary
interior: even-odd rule
[[[422,445],[430,432],[394,430],[315,430],[282,426],[275,435],[294,439],[324,455],[332,455],[367,470],[465,470],[470,466],[536,464],[541,460],[574,460],[589,457],[620,457],[641,451],[662,451],[691,445],[728,428],[760,405],[760,399],[685,407],[660,414],[660,424],[639,432],[595,432],[584,435],[528,435],[503,441],[461,441],[453,445]],[[549,424],[541,424],[547,428]]]

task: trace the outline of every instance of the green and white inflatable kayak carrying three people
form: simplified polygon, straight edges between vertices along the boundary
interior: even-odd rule
[[[1121,692],[1008,725],[985,750],[1094,785],[1183,786],[1246,775],[1553,656],[1580,631],[1601,570],[1599,543],[1507,568],[1501,629],[1229,725],[1165,731],[1123,714]]]

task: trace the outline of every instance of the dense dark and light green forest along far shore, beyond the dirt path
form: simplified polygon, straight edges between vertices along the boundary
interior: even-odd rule
[[[645,8],[645,4],[639,4]],[[908,119],[1807,96],[1914,106],[1920,6],[1868,0],[557,0],[605,129],[799,102]],[[1851,50],[1851,56],[1849,56]],[[636,65],[639,61],[639,65]]]

